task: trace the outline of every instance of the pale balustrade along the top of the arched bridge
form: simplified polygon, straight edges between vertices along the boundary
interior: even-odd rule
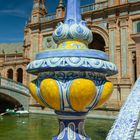
[[[9,90],[14,90],[14,91],[17,91],[19,93],[29,96],[29,89],[26,86],[16,81],[13,81],[11,79],[0,77],[0,87],[6,88]]]

